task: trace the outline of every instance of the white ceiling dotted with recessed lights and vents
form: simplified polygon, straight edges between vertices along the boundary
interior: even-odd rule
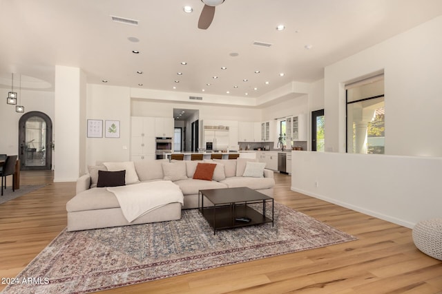
[[[193,13],[184,13],[187,5]],[[259,97],[291,81],[317,81],[325,66],[442,14],[441,0],[225,0],[209,29],[199,30],[203,6],[0,0],[0,84],[10,87],[14,72],[24,88],[53,90],[55,65],[67,65],[84,70],[88,83]],[[115,23],[111,15],[139,25]],[[286,29],[277,31],[279,24]]]

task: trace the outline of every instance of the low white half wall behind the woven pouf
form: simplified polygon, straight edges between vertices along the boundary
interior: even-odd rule
[[[442,158],[292,151],[291,162],[293,191],[409,228],[441,217]]]

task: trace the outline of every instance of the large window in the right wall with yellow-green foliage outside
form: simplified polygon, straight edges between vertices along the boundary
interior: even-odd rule
[[[383,75],[365,81],[346,87],[347,153],[385,154]]]

